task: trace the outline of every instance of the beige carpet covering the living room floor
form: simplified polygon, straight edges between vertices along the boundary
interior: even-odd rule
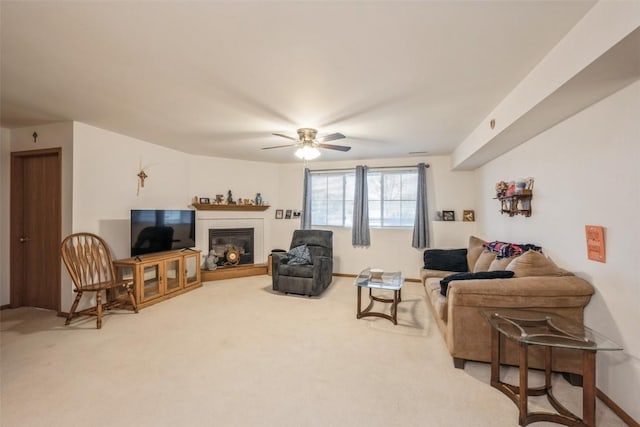
[[[107,314],[102,330],[95,318],[65,327],[50,311],[3,310],[0,425],[518,425],[487,364],[453,368],[420,284],[405,285],[394,326],[356,319],[352,279],[320,298],[273,293],[270,280],[208,282]],[[504,378],[517,382],[511,368]],[[581,413],[581,389],[554,381]],[[597,418],[624,425],[601,402]]]

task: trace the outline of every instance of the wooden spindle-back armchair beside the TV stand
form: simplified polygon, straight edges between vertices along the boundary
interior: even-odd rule
[[[60,254],[75,285],[74,292],[77,292],[65,325],[71,322],[84,292],[96,293],[96,306],[82,310],[78,315],[97,316],[98,329],[102,327],[102,311],[110,310],[123,302],[110,295],[114,288],[126,289],[133,310],[138,312],[132,289],[133,280],[117,280],[111,251],[100,237],[91,233],[71,234],[62,241]],[[102,291],[106,291],[107,294],[105,304],[102,303]]]

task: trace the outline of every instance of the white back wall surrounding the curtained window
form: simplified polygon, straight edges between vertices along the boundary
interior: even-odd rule
[[[358,164],[375,166],[405,166],[425,162],[427,169],[427,191],[429,217],[436,210],[454,210],[455,223],[431,223],[431,245],[433,247],[464,247],[475,223],[463,223],[462,211],[475,209],[475,185],[472,172],[452,172],[448,157],[410,157],[363,161],[309,163],[309,169],[352,168]],[[280,203],[276,209],[302,209],[302,183],[304,165],[292,163],[280,167]],[[288,249],[293,230],[300,227],[298,219],[276,220],[273,225],[275,248]],[[334,272],[357,274],[367,266],[385,270],[400,270],[407,278],[419,278],[422,265],[422,250],[411,247],[411,228],[371,229],[371,246],[354,248],[351,245],[351,228],[330,227],[334,232]]]

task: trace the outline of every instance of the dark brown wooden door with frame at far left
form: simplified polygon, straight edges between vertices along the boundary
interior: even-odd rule
[[[61,149],[11,153],[11,307],[60,311]]]

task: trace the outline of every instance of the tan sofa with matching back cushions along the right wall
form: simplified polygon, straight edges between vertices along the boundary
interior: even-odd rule
[[[466,254],[469,270],[512,270],[514,277],[454,280],[445,297],[440,293],[440,280],[453,272],[421,269],[427,300],[457,368],[464,367],[466,360],[491,361],[491,329],[480,314],[481,309],[544,311],[582,322],[584,307],[594,292],[588,282],[558,268],[540,252],[527,251],[518,257],[496,260],[496,254],[485,249],[483,243],[470,237]],[[503,363],[518,365],[517,347],[506,341]],[[541,348],[530,349],[531,367],[543,368],[543,360]],[[581,353],[554,349],[553,370],[581,374]]]

